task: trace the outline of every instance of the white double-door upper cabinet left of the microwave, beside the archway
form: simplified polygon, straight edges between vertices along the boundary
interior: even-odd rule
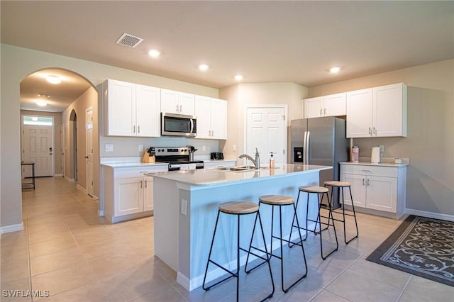
[[[160,89],[108,79],[103,90],[105,135],[160,136]]]

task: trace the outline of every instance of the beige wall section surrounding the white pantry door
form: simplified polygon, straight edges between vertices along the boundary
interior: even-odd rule
[[[287,105],[287,126],[292,119],[301,118],[301,99],[308,89],[292,82],[245,83],[223,88],[221,99],[228,101],[228,131],[223,152],[227,157],[238,159],[244,153],[244,112],[248,105]],[[236,151],[234,151],[236,145]]]

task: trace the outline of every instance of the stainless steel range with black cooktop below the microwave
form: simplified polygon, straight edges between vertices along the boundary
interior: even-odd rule
[[[203,160],[192,160],[196,151],[192,146],[151,147],[151,151],[155,152],[157,162],[167,162],[169,164],[169,171],[179,170],[182,164],[195,164],[196,169],[204,169]]]

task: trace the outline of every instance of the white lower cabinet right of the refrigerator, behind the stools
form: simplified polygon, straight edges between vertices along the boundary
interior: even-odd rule
[[[355,209],[369,209],[392,213],[399,218],[404,214],[406,198],[406,166],[381,166],[372,164],[341,164],[341,181],[349,182]],[[345,191],[345,204],[352,201]],[[389,215],[386,215],[389,216]]]

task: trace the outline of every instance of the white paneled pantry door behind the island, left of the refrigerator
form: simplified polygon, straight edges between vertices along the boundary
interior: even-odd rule
[[[285,123],[284,107],[247,108],[245,153],[254,158],[255,148],[258,148],[261,166],[268,166],[271,152],[276,164],[284,164],[287,146]]]

